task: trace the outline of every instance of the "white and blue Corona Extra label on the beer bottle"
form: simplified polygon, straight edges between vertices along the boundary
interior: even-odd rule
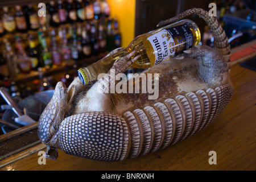
[[[155,53],[155,64],[166,61],[193,46],[193,35],[186,24],[167,28],[147,38]]]

